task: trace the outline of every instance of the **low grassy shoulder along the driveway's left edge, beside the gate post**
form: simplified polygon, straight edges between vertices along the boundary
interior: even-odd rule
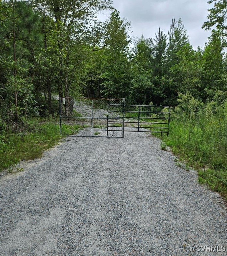
[[[21,160],[40,157],[43,150],[56,145],[66,135],[77,133],[83,127],[80,125],[62,125],[62,136],[59,133],[59,122],[54,119],[26,120],[17,132],[9,127],[0,134],[0,171],[13,167]]]

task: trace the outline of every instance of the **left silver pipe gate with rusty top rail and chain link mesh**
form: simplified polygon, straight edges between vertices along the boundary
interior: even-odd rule
[[[67,125],[74,131],[71,136],[106,137],[108,113],[123,123],[122,107],[118,107],[121,112],[111,113],[114,105],[122,104],[122,99],[59,97],[60,133],[67,134]],[[114,137],[123,137],[122,129]]]

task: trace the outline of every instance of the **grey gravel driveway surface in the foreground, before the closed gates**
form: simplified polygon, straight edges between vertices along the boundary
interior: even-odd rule
[[[174,159],[128,132],[22,163],[0,178],[0,255],[227,255],[226,206]]]

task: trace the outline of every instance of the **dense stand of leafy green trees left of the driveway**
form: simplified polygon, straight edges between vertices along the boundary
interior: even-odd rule
[[[20,122],[20,116],[37,111],[54,116],[53,93],[67,97],[71,88],[73,95],[81,94],[81,59],[88,55],[91,36],[94,44],[103,42],[103,26],[93,22],[106,9],[112,9],[109,0],[64,1],[61,6],[56,1],[1,1],[0,121]]]

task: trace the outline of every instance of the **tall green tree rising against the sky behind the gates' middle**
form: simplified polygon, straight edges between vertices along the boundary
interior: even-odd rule
[[[127,36],[130,23],[120,18],[120,13],[114,10],[105,24],[104,51],[101,94],[106,98],[125,98],[129,95],[130,65],[128,60]]]

